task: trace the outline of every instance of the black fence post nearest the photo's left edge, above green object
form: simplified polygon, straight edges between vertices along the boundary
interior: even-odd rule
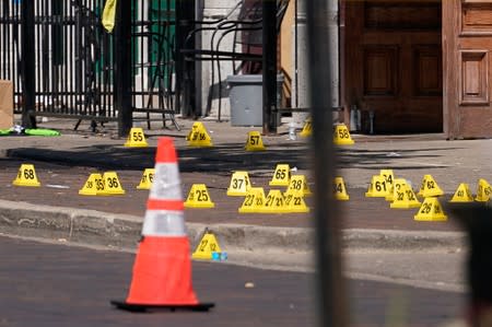
[[[23,91],[22,126],[24,128],[36,128],[35,104],[36,104],[36,56],[34,45],[34,3],[33,1],[21,2],[21,79]]]

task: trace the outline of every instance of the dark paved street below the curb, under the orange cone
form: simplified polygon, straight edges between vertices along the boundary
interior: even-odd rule
[[[114,308],[131,281],[132,254],[0,237],[0,326],[316,326],[312,273],[194,261],[209,313],[132,314]],[[449,326],[466,296],[360,279],[348,283],[351,326]]]

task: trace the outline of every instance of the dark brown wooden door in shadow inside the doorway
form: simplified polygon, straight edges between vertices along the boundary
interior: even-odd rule
[[[344,3],[345,105],[375,133],[442,132],[441,1]]]

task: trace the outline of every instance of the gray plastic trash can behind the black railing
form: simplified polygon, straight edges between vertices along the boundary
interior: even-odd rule
[[[263,77],[261,74],[229,75],[232,126],[262,126]],[[277,104],[282,96],[283,75],[277,75]]]

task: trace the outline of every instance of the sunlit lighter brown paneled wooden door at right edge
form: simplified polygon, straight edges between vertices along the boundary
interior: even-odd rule
[[[492,0],[443,2],[444,125],[449,139],[492,137]]]

